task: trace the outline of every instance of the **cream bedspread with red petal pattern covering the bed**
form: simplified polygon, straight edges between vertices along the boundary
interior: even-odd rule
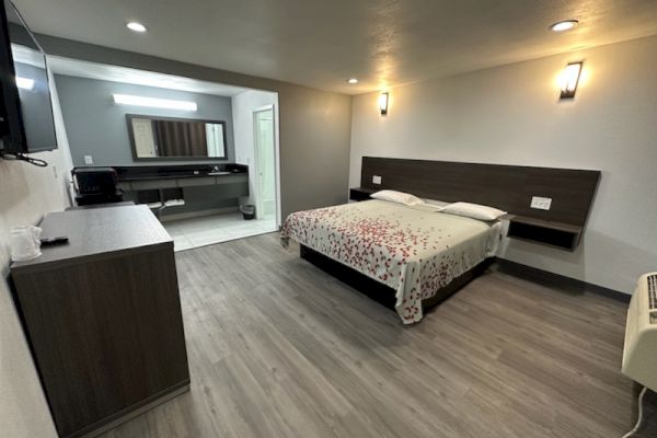
[[[496,254],[502,223],[439,212],[430,205],[366,200],[291,214],[281,241],[330,257],[395,292],[404,324],[423,302]]]

